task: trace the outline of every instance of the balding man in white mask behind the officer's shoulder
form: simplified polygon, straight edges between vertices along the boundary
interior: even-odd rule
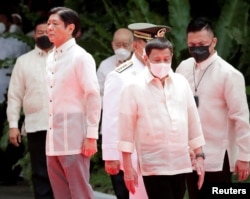
[[[133,54],[133,33],[127,28],[116,30],[111,45],[114,55],[103,60],[97,69],[101,96],[103,96],[104,82],[107,75],[121,63],[131,58]]]

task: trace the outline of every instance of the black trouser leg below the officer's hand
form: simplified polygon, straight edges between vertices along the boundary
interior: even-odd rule
[[[124,182],[124,173],[122,170],[116,175],[110,175],[112,186],[117,199],[129,199],[129,191]]]

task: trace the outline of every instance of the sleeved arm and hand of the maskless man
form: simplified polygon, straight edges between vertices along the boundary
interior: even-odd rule
[[[79,60],[78,75],[86,100],[87,135],[82,154],[91,157],[97,152],[98,128],[101,116],[100,88],[96,76],[96,64],[91,54],[84,54]]]

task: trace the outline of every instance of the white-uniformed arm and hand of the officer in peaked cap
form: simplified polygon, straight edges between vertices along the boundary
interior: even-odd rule
[[[106,78],[102,114],[102,158],[109,174],[120,170],[120,153],[117,150],[118,109],[123,81],[120,74],[112,71]]]

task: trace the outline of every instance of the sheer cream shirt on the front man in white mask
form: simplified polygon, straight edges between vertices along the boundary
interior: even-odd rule
[[[205,144],[187,80],[172,71],[164,87],[148,68],[124,86],[119,109],[118,148],[134,151],[143,176],[192,171],[189,147]]]

